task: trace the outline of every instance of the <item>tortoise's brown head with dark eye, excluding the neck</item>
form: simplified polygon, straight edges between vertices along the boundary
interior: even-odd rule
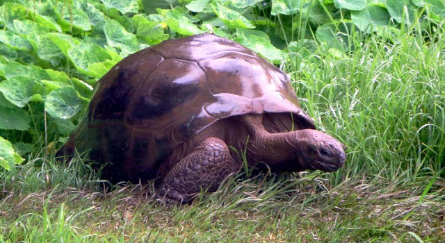
[[[297,152],[300,153],[300,163],[307,169],[336,171],[346,160],[345,146],[334,137],[314,129],[293,132]]]

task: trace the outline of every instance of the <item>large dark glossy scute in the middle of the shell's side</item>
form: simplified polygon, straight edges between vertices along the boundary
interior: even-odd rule
[[[165,59],[133,94],[124,120],[132,128],[159,131],[186,124],[213,99],[196,62]]]

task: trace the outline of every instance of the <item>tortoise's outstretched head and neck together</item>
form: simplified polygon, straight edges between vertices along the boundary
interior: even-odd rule
[[[259,115],[244,115],[242,119],[252,137],[248,144],[249,161],[264,162],[274,171],[320,169],[332,172],[344,165],[345,146],[334,137],[317,131],[315,126],[298,126],[300,129],[296,131],[282,132],[286,128],[276,125],[280,123],[264,122]]]

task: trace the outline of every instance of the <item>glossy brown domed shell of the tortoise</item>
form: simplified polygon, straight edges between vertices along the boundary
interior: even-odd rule
[[[92,149],[92,160],[124,162],[129,178],[154,178],[175,146],[218,119],[265,112],[292,112],[315,128],[280,69],[205,33],[167,40],[115,65],[97,84],[72,140]]]

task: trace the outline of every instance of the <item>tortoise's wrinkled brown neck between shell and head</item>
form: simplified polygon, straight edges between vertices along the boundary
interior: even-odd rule
[[[242,122],[250,133],[247,158],[250,165],[264,162],[273,171],[302,171],[308,169],[303,153],[307,144],[305,130],[269,133],[261,115],[246,115]]]

